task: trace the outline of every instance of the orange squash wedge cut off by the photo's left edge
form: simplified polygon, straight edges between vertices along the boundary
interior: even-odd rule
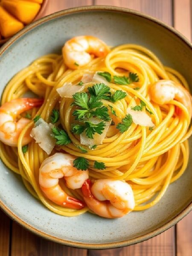
[[[19,20],[16,20],[12,15],[6,12],[2,6],[0,6],[0,33],[5,38],[8,38],[20,29],[23,29],[23,23]]]

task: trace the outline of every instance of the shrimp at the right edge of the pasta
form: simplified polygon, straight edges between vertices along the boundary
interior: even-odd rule
[[[171,80],[159,80],[151,88],[151,99],[157,104],[166,104],[175,99],[182,103],[192,116],[192,98],[182,85]]]

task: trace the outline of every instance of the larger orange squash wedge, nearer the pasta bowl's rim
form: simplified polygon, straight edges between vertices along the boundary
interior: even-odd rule
[[[1,3],[8,12],[25,24],[30,23],[35,18],[41,7],[39,3],[23,0],[2,0]]]

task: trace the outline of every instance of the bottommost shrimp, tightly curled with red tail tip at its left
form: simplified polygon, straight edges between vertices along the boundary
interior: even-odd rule
[[[131,186],[121,180],[96,180],[91,186],[88,179],[82,186],[87,206],[97,215],[105,218],[120,218],[135,207]]]

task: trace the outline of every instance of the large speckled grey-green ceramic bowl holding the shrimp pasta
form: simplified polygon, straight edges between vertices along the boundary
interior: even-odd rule
[[[95,35],[108,45],[140,44],[192,81],[192,44],[179,32],[140,12],[110,6],[68,9],[38,20],[0,49],[0,93],[19,70],[41,55],[61,52],[77,35]],[[53,40],[54,38],[54,40]],[[190,84],[190,83],[189,83]],[[192,140],[190,140],[192,150]],[[0,207],[33,233],[68,246],[107,249],[135,244],[172,227],[192,209],[192,157],[158,204],[119,219],[86,213],[62,217],[29,194],[20,178],[0,163]]]

